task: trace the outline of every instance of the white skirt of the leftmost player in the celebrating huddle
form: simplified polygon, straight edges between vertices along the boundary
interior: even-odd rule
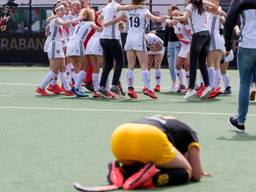
[[[61,41],[50,41],[47,53],[49,59],[65,58]]]

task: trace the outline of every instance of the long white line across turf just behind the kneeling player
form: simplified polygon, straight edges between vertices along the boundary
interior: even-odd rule
[[[182,115],[205,115],[205,116],[231,116],[232,113],[209,113],[193,111],[157,111],[157,110],[136,110],[136,109],[96,109],[96,108],[68,108],[68,107],[21,107],[21,106],[2,106],[0,110],[41,110],[41,111],[89,111],[89,112],[117,112],[117,113],[155,113],[155,114],[182,114]],[[256,117],[256,114],[248,114]]]

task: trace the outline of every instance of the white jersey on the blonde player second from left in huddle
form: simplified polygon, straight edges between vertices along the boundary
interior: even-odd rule
[[[70,40],[79,39],[85,41],[87,35],[89,34],[93,22],[91,21],[82,21],[78,25],[76,25]]]

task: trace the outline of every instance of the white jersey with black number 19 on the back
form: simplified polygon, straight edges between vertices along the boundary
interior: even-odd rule
[[[147,18],[150,12],[148,9],[136,9],[127,12],[128,34],[144,34],[147,27]]]

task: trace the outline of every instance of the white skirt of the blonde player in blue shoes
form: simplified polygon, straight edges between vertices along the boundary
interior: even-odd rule
[[[67,44],[67,56],[85,55],[84,43],[81,39],[71,39]]]

